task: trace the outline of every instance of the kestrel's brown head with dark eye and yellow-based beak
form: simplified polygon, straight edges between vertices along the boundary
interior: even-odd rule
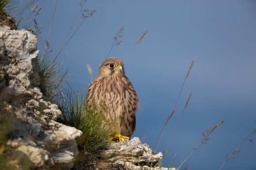
[[[124,62],[119,58],[109,58],[103,61],[100,69],[99,76],[124,76]]]

